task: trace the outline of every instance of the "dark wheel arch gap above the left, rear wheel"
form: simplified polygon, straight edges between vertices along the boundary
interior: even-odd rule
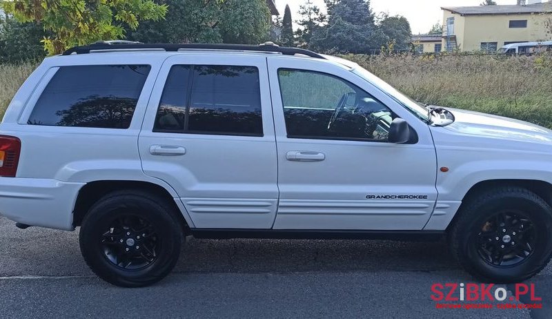
[[[81,222],[86,213],[90,210],[90,207],[100,200],[101,197],[114,191],[122,190],[145,191],[166,200],[166,202],[179,213],[178,218],[182,229],[186,233],[189,233],[190,225],[193,224],[191,220],[189,220],[188,213],[186,209],[184,209],[184,206],[171,195],[174,191],[171,192],[171,190],[166,189],[164,186],[153,182],[137,180],[98,180],[85,184],[77,195],[75,208],[73,209],[73,226],[81,226]]]

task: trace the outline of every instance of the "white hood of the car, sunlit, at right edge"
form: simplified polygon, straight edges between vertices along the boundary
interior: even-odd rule
[[[525,142],[552,143],[552,131],[528,122],[470,110],[450,110],[455,122],[444,128],[456,133]]]

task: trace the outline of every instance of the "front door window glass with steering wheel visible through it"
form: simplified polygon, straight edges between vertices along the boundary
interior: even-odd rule
[[[354,84],[306,70],[278,78],[289,138],[388,140],[395,115]]]

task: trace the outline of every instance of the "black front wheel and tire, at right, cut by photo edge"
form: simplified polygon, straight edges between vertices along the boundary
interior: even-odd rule
[[[522,282],[552,257],[551,206],[527,189],[485,191],[463,204],[458,214],[449,232],[451,251],[482,282]]]

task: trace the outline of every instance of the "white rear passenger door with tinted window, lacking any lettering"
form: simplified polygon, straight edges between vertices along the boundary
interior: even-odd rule
[[[277,155],[266,58],[168,58],[139,137],[146,175],[170,184],[195,228],[270,229]]]

